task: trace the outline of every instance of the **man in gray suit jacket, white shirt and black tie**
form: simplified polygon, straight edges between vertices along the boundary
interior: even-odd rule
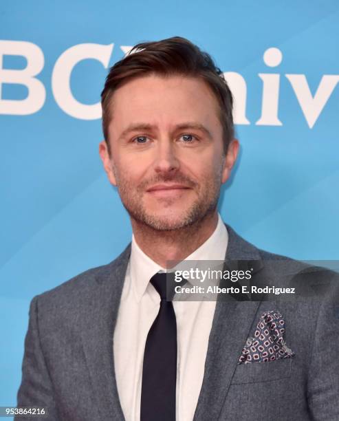
[[[179,37],[137,45],[107,76],[102,125],[131,245],[34,297],[18,406],[49,420],[338,420],[335,303],[164,298],[169,261],[254,261],[261,280],[278,277],[269,261],[294,265],[217,213],[239,143],[210,56]]]

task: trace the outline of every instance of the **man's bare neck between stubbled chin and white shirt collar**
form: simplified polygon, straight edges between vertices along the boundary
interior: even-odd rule
[[[155,263],[168,268],[168,261],[182,261],[212,235],[217,228],[218,215],[207,215],[203,220],[178,230],[159,231],[131,219],[133,235],[138,246]]]

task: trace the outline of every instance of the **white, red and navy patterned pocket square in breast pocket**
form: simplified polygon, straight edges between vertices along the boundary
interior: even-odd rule
[[[285,321],[275,310],[261,314],[254,338],[248,338],[238,364],[266,363],[294,356],[284,341]]]

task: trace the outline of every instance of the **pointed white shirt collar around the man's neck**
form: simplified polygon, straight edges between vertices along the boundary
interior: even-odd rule
[[[218,213],[218,223],[214,232],[201,244],[197,250],[191,253],[185,260],[219,260],[223,261],[228,245],[228,232],[225,224]],[[131,258],[130,258],[131,287],[138,301],[146,291],[149,280],[157,272],[166,272],[165,268],[158,265],[147,256],[135,241],[132,235]]]

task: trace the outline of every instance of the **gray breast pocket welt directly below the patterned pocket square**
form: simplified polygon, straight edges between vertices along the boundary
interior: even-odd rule
[[[267,382],[287,378],[292,374],[292,358],[270,361],[269,363],[239,364],[234,371],[231,385],[241,383]]]

